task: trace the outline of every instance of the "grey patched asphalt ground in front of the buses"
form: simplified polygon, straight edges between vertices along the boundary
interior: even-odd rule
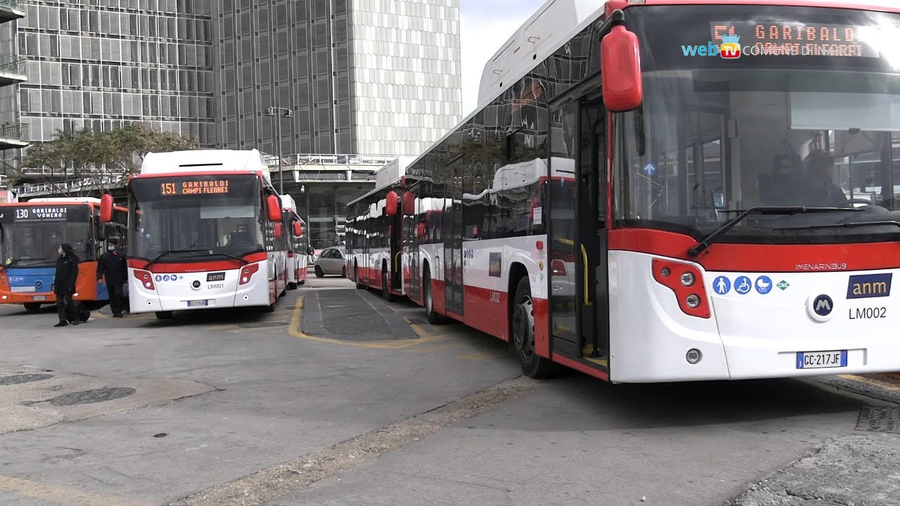
[[[0,307],[3,505],[900,504],[900,436],[857,429],[894,405],[818,382],[531,381],[330,277],[270,314],[52,310]]]

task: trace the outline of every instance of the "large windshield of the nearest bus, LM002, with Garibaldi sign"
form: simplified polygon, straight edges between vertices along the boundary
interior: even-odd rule
[[[847,211],[752,215],[720,240],[896,236],[829,228],[900,219],[900,50],[885,43],[896,14],[655,6],[629,9],[627,23],[641,38],[644,104],[616,125],[619,226],[699,239],[743,210],[799,205]]]

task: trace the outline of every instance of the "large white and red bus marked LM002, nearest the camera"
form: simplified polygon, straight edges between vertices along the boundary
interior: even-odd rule
[[[477,110],[350,204],[349,261],[382,262],[357,282],[534,377],[896,371],[897,33],[874,0],[548,3]]]

